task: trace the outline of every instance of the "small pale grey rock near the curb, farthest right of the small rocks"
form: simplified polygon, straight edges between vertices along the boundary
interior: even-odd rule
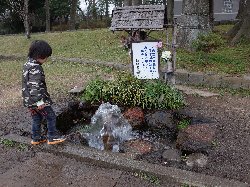
[[[208,156],[202,153],[192,153],[188,155],[186,164],[189,167],[205,167],[208,163]]]

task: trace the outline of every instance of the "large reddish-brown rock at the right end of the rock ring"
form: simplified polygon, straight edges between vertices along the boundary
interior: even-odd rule
[[[212,147],[215,129],[210,124],[190,125],[177,136],[176,147],[188,152],[207,152]]]

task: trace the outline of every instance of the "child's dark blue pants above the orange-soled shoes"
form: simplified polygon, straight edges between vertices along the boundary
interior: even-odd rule
[[[32,115],[32,139],[40,140],[41,138],[41,122],[45,118],[48,128],[48,139],[52,139],[56,135],[56,115],[51,106],[44,107],[43,110],[36,110]]]

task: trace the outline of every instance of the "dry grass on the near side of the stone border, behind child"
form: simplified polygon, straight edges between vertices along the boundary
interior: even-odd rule
[[[2,61],[0,66],[0,103],[13,103],[21,98],[22,67],[25,61]],[[43,64],[48,91],[55,99],[65,98],[75,86],[82,87],[92,79],[110,79],[117,72],[110,68],[83,65],[71,62]],[[16,92],[14,94],[14,91]]]

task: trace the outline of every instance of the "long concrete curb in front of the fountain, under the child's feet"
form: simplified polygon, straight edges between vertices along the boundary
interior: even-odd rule
[[[15,134],[2,136],[3,139],[9,139],[18,143],[30,145],[30,139]],[[84,146],[76,146],[70,143],[61,145],[39,145],[38,149],[52,152],[54,154],[63,154],[67,157],[75,158],[84,162],[90,162],[98,166],[121,169],[126,171],[140,171],[155,175],[162,180],[188,184],[191,186],[220,186],[220,187],[247,187],[246,183],[215,176],[184,171],[173,167],[164,167],[156,164],[149,164],[143,161],[132,160],[121,153],[112,153],[99,151]]]

